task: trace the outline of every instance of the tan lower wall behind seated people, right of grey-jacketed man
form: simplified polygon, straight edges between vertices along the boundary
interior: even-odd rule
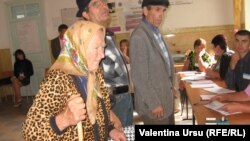
[[[180,28],[175,31],[175,36],[166,37],[165,40],[168,44],[168,48],[173,54],[179,51],[185,54],[187,50],[193,49],[194,41],[201,37],[207,41],[207,51],[213,54],[211,40],[217,34],[224,34],[228,40],[228,46],[233,49],[233,29],[233,25]]]

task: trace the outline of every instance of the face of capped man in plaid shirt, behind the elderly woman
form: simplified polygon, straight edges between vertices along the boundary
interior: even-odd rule
[[[83,16],[99,25],[107,26],[110,20],[109,8],[106,0],[91,0],[88,12],[83,12]]]

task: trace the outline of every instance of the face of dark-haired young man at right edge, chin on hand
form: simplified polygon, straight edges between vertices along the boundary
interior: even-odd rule
[[[235,36],[235,49],[240,54],[244,55],[249,51],[250,39],[247,35],[236,35]]]

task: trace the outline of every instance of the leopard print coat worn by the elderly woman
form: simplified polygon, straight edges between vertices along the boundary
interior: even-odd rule
[[[104,86],[103,75],[100,71],[97,72],[97,78],[103,83],[101,84],[101,92],[105,107],[102,107],[101,98],[99,98],[96,123],[98,124],[100,140],[103,141],[108,137],[105,127],[107,124],[111,125],[110,120],[108,120],[109,123],[104,122],[105,118],[110,118],[109,111],[111,107],[108,89]],[[77,126],[70,126],[63,134],[57,135],[50,125],[50,117],[61,113],[70,96],[76,94],[78,94],[77,88],[70,75],[61,70],[49,71],[42,81],[33,105],[29,109],[27,119],[22,125],[24,139],[26,141],[77,141]],[[104,116],[103,108],[108,111],[108,117]],[[82,126],[84,140],[94,140],[94,129],[88,117],[82,121]]]

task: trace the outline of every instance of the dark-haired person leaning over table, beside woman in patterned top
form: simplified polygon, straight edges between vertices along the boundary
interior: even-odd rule
[[[229,67],[231,55],[234,53],[227,47],[226,37],[222,34],[216,35],[212,39],[215,53],[215,63],[206,69],[206,76],[209,78],[224,79]]]

